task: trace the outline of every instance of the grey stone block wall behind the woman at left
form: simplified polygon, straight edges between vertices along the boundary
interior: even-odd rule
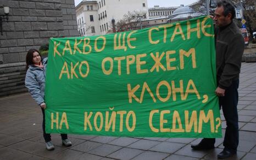
[[[25,57],[50,37],[78,36],[74,0],[0,0],[10,8],[0,34],[0,96],[26,91]]]

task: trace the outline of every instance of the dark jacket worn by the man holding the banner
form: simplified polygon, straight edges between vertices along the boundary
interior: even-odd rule
[[[244,50],[243,36],[235,23],[215,28],[215,45],[218,85],[226,89],[239,79]]]

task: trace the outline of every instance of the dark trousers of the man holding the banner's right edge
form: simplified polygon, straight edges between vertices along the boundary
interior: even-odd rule
[[[233,80],[229,88],[225,90],[225,96],[219,97],[219,106],[222,108],[226,120],[226,132],[224,138],[224,149],[236,153],[238,146],[238,85],[239,80]],[[205,145],[214,145],[215,138],[204,138],[202,143]]]

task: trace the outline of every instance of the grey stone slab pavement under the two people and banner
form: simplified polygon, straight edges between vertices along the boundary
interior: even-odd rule
[[[256,159],[256,63],[242,63],[238,102],[240,144],[229,159]],[[222,128],[225,121],[221,115]],[[135,138],[69,135],[71,147],[62,146],[60,136],[52,134],[54,151],[45,149],[42,115],[28,93],[0,98],[0,159],[217,159],[222,140],[216,148],[193,151],[193,138]],[[225,129],[222,129],[223,133]]]

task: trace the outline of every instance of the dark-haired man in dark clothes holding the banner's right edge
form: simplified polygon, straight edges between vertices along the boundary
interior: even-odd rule
[[[218,87],[215,93],[219,96],[226,119],[224,150],[218,158],[228,158],[236,154],[238,146],[238,84],[243,55],[244,42],[240,29],[233,23],[235,8],[227,1],[218,2],[215,9],[215,45],[216,72]],[[201,143],[192,145],[194,150],[213,149],[215,138],[204,138]]]

